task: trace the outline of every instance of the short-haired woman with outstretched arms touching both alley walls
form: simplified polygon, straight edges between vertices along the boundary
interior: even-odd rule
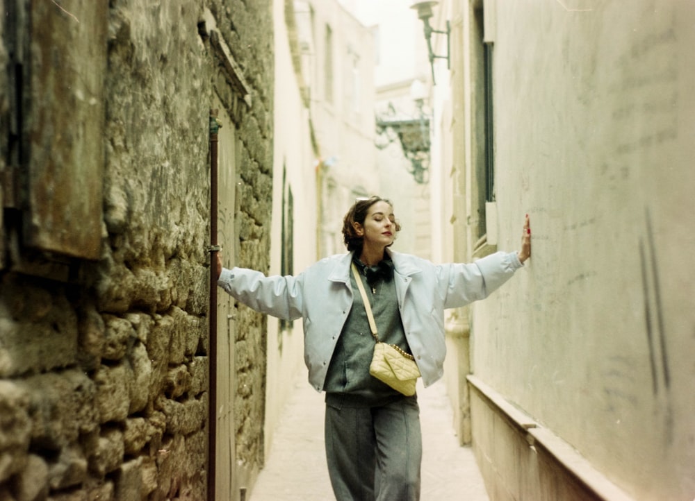
[[[218,284],[229,294],[259,312],[304,319],[309,382],[326,392],[326,457],[338,501],[420,498],[417,396],[404,396],[370,375],[375,339],[356,276],[367,291],[379,340],[413,355],[427,387],[443,375],[443,310],[486,297],[531,254],[528,215],[521,251],[474,264],[435,265],[397,253],[389,247],[399,230],[392,204],[373,196],[345,214],[348,253],[320,260],[300,275],[223,269],[218,256]]]

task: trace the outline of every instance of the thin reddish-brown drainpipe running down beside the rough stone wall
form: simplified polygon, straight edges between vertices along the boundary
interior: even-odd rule
[[[218,110],[210,110],[210,305],[208,307],[208,500],[215,499],[217,452]]]

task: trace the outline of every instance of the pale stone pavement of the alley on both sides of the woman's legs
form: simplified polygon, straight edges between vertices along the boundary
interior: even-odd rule
[[[250,501],[334,499],[323,450],[323,397],[302,371]],[[425,389],[420,382],[418,400],[423,430],[420,500],[488,501],[473,450],[458,445],[445,384],[440,381]]]

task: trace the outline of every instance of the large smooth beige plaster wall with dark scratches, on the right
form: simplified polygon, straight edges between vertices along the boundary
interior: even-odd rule
[[[496,6],[499,246],[528,212],[533,257],[473,308],[475,375],[628,495],[691,499],[695,4]]]

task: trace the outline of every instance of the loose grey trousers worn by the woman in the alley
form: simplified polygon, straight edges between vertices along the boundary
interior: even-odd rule
[[[377,407],[326,405],[326,457],[338,501],[418,501],[420,407],[403,397]]]

